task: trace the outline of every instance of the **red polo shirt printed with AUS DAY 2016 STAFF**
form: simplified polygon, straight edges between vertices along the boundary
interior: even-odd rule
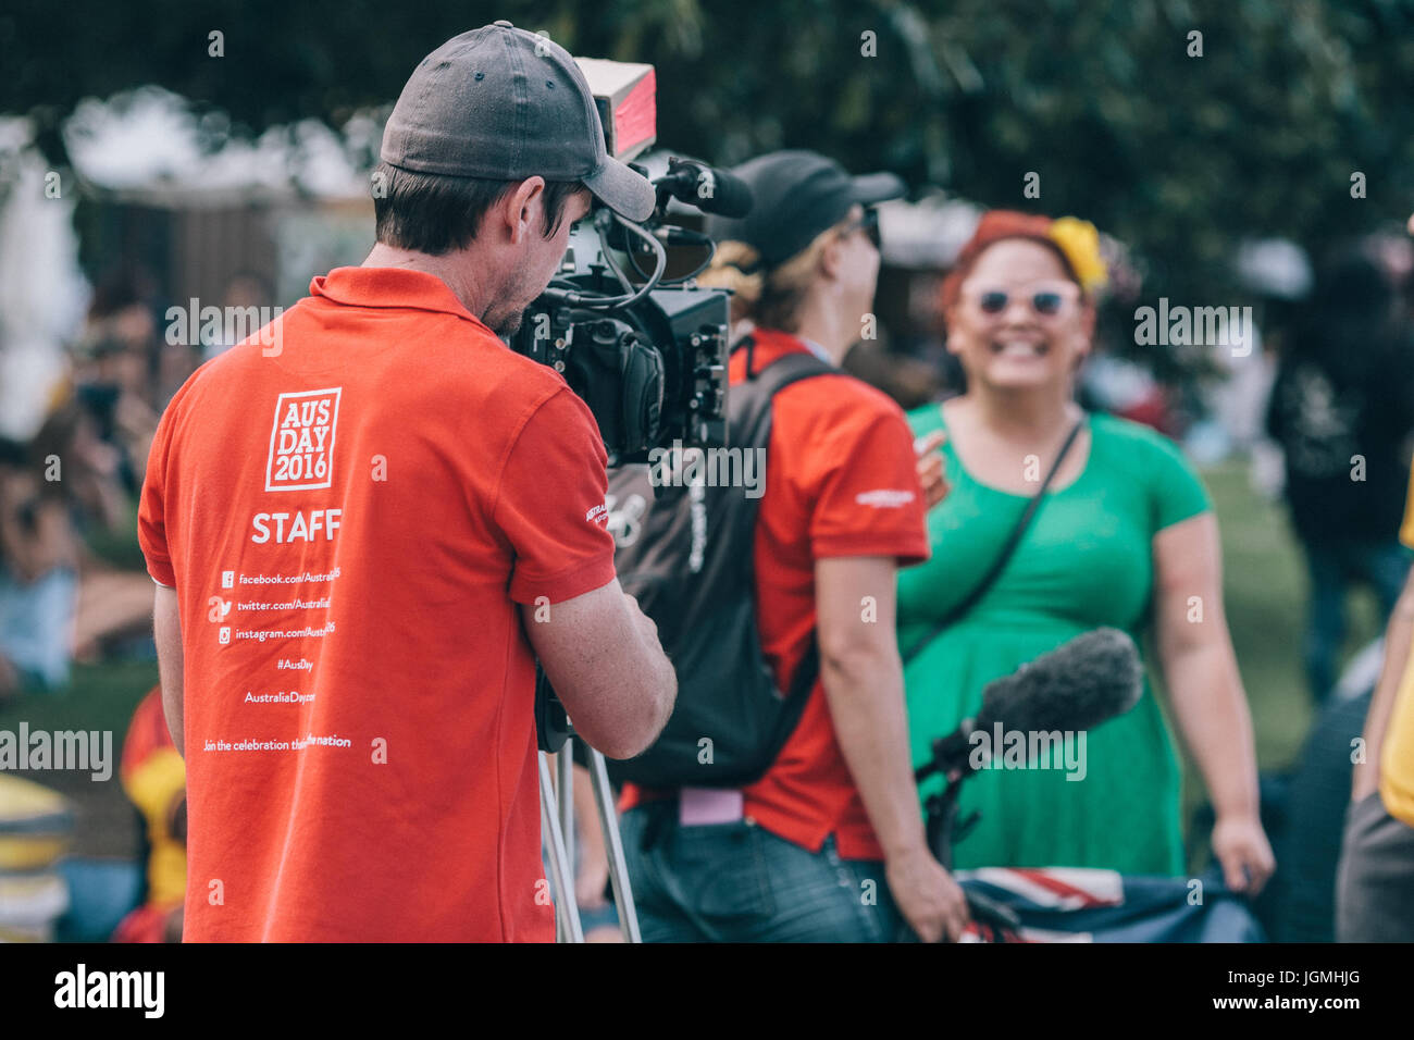
[[[310,291],[177,392],[143,487],[185,938],[551,940],[516,604],[614,579],[598,427],[431,275]]]

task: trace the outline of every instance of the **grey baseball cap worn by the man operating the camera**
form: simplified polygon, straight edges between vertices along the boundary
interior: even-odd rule
[[[452,37],[419,62],[379,154],[413,173],[578,181],[631,221],[653,212],[653,185],[605,150],[574,58],[509,21]]]

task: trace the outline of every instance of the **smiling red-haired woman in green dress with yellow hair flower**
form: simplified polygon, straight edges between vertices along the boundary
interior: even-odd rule
[[[1213,852],[1230,887],[1257,891],[1274,860],[1208,495],[1169,440],[1085,415],[1073,399],[1103,272],[1090,225],[991,212],[945,282],[947,349],[967,392],[909,416],[919,437],[942,441],[950,485],[929,514],[932,559],[899,574],[899,644],[905,657],[916,649],[905,666],[913,761],[977,713],[990,681],[1066,640],[1113,625],[1143,649],[1152,635],[1157,661],[1147,664],[1164,678],[1216,809]],[[997,559],[1076,423],[1000,577],[929,638]],[[1051,768],[988,768],[966,781],[962,815],[981,816],[957,843],[956,867],[1184,872],[1179,768],[1148,683],[1133,710],[1083,736]]]

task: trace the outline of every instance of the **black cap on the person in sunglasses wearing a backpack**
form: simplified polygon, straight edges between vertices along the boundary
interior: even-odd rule
[[[751,188],[755,204],[740,219],[708,216],[704,229],[718,242],[745,242],[765,267],[789,260],[814,236],[844,219],[850,207],[899,198],[904,181],[891,173],[850,177],[816,151],[771,151],[731,170]]]

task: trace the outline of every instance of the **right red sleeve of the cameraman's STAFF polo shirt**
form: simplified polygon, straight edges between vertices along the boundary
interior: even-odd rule
[[[568,388],[526,422],[492,507],[515,552],[512,600],[563,603],[614,580],[607,463],[594,415]]]

